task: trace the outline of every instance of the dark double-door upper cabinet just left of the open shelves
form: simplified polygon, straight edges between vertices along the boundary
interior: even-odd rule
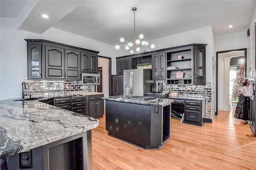
[[[165,53],[152,55],[152,80],[166,79]]]

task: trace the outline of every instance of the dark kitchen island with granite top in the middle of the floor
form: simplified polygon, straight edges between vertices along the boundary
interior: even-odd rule
[[[144,149],[159,149],[170,138],[172,99],[104,97],[108,134]]]

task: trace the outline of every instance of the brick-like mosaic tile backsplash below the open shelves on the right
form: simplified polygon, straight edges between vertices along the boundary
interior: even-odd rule
[[[183,86],[170,86],[166,85],[165,80],[158,80],[162,83],[159,91],[168,93],[170,87],[173,92],[177,92],[178,96],[191,96],[191,97],[206,97],[206,119],[212,119],[212,82],[207,82],[206,85],[183,85]]]

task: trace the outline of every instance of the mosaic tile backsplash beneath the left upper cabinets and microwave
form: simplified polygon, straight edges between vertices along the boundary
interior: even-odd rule
[[[26,83],[24,93],[31,96],[54,97],[55,95],[68,95],[94,92],[94,85],[82,85],[82,81],[76,80],[28,80],[23,77]]]

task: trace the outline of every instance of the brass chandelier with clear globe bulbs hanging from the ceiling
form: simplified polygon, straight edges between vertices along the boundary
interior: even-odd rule
[[[134,41],[133,42],[126,42],[124,40],[124,38],[120,38],[120,42],[125,42],[126,44],[124,45],[116,45],[116,49],[120,49],[120,47],[125,46],[126,50],[129,50],[130,47],[132,47],[132,49],[130,50],[130,53],[134,53],[134,48],[136,49],[136,51],[140,51],[140,47],[138,47],[138,45],[141,43],[141,45],[145,45],[145,46],[150,46],[150,48],[154,48],[155,45],[151,44],[149,45],[147,41],[142,41],[140,42],[140,40],[142,40],[144,38],[143,34],[139,35],[139,39],[136,40],[136,35],[135,35],[135,11],[137,10],[136,7],[132,7],[132,11],[134,12]]]

